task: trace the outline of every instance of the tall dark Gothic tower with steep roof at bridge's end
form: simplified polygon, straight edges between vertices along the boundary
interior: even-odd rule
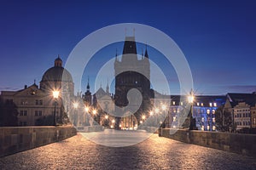
[[[131,88],[136,88],[143,96],[143,103],[134,114],[139,122],[142,113],[148,111],[150,105],[150,65],[147,48],[142,59],[138,59],[135,37],[125,37],[122,57],[120,60],[116,57],[114,71],[115,105],[119,107],[129,105],[127,93]]]

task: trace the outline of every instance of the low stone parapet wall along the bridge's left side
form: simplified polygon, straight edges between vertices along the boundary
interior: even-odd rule
[[[0,127],[0,157],[61,141],[76,133],[72,126]]]

